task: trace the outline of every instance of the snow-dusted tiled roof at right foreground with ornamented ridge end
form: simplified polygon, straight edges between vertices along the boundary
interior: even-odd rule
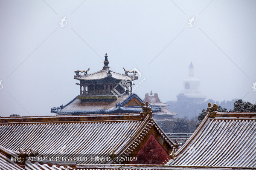
[[[256,168],[256,112],[216,112],[216,106],[209,105],[204,120],[168,164]]]

